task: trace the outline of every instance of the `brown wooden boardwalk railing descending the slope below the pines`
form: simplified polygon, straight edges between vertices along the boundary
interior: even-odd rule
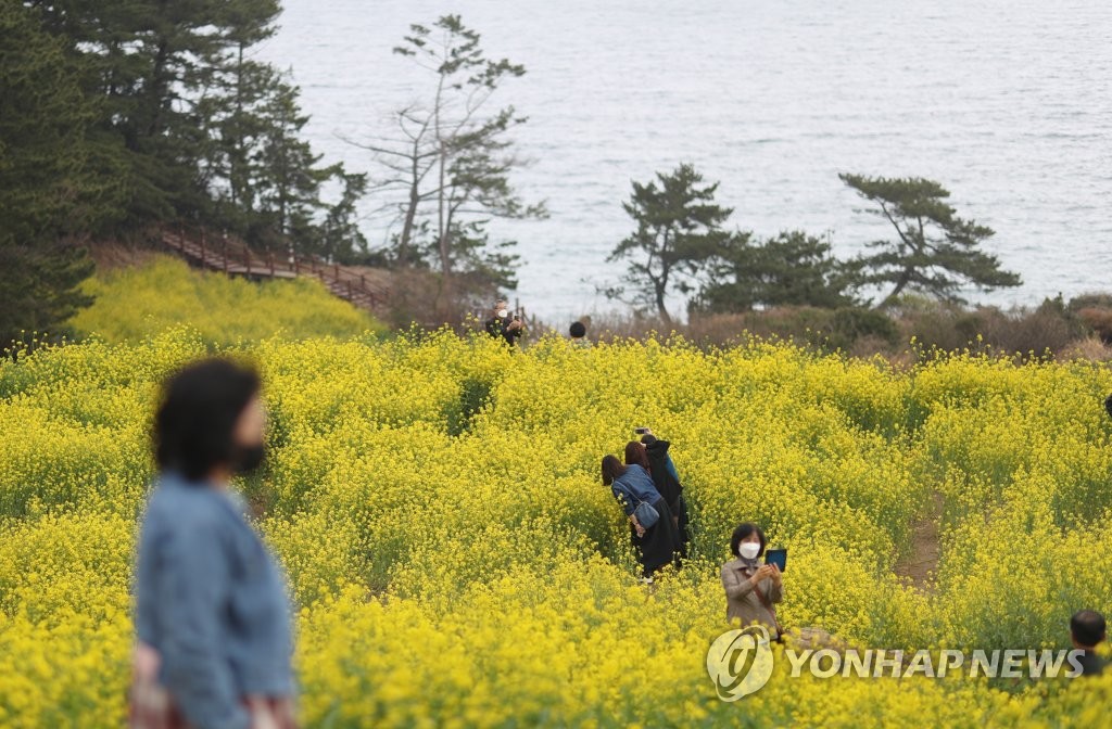
[[[216,240],[203,229],[196,232],[183,228],[160,231],[162,244],[190,259],[193,263],[228,276],[255,279],[292,279],[311,276],[334,294],[353,304],[371,310],[386,303],[389,290],[368,279],[366,273],[318,258],[275,256],[252,251],[242,241],[220,236]]]

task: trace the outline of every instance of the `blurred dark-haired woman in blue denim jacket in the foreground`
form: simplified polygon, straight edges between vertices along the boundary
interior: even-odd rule
[[[136,570],[133,727],[295,726],[285,578],[229,490],[262,461],[259,390],[218,359],[167,383]]]

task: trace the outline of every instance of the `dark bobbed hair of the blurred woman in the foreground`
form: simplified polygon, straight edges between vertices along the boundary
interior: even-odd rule
[[[255,370],[225,359],[202,360],[173,375],[155,416],[158,467],[199,482],[231,462],[236,422],[260,387]]]

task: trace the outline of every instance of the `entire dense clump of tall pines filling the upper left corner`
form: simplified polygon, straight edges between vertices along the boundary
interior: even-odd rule
[[[0,2],[0,344],[89,303],[79,247],[188,219],[349,256],[361,174],[321,167],[252,48],[277,0]],[[325,183],[342,190],[335,204]]]

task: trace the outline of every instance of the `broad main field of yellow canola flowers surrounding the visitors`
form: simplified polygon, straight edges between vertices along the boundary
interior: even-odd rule
[[[158,383],[209,350],[175,329],[0,364],[0,727],[123,722]],[[1108,726],[1112,676],[793,678],[777,652],[725,702],[706,670],[744,520],[790,549],[788,626],[1068,648],[1070,615],[1112,603],[1105,368],[446,332],[225,351],[266,381],[268,462],[239,486],[289,577],[304,726]],[[599,478],[642,425],[694,531],[652,587]],[[940,502],[917,589],[893,568]]]

